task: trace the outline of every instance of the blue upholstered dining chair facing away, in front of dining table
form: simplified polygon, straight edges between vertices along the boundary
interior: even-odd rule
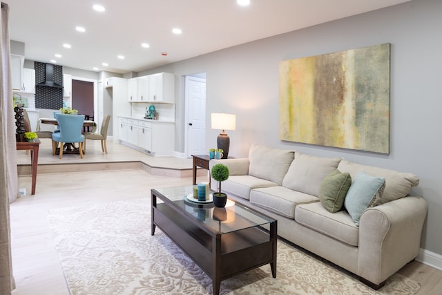
[[[52,155],[55,155],[57,142],[60,143],[60,159],[63,157],[65,143],[74,144],[78,142],[80,158],[83,158],[84,135],[81,134],[84,115],[57,115],[57,122],[60,126],[60,132],[52,133]]]

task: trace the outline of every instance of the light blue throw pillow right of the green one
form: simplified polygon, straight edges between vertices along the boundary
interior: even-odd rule
[[[359,219],[365,209],[379,203],[384,189],[385,178],[370,176],[365,171],[356,175],[344,201],[345,209],[356,225],[359,225]]]

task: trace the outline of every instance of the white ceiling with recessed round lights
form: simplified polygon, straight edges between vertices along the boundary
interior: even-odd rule
[[[10,39],[25,43],[26,59],[128,73],[410,0],[251,0],[247,7],[236,0],[2,1],[10,6]]]

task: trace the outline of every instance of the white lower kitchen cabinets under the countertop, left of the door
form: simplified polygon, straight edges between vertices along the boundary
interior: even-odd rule
[[[119,117],[119,140],[133,149],[156,156],[173,155],[175,123]],[[121,134],[123,133],[123,134]]]

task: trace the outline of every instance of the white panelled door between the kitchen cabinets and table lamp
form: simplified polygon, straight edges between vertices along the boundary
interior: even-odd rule
[[[185,78],[186,156],[204,155],[206,151],[206,73]]]

